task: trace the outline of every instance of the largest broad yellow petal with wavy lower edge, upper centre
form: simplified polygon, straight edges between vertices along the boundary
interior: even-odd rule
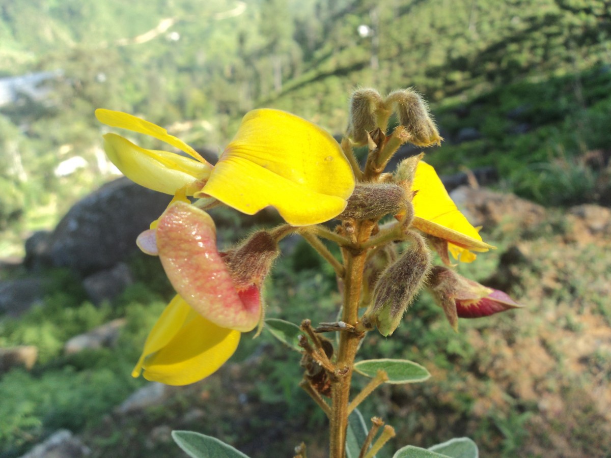
[[[202,193],[246,214],[271,205],[301,226],[337,216],[353,189],[353,171],[329,133],[290,113],[262,109],[244,116]]]

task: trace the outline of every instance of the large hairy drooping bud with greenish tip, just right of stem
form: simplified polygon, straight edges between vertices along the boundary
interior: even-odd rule
[[[382,273],[373,293],[373,304],[365,315],[383,336],[392,334],[422,288],[431,268],[431,254],[421,236],[414,245]]]

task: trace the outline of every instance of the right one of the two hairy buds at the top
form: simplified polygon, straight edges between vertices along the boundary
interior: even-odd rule
[[[419,147],[441,144],[442,138],[433,122],[428,106],[413,89],[402,89],[386,97],[386,106],[394,106],[399,122],[410,134],[409,142]]]

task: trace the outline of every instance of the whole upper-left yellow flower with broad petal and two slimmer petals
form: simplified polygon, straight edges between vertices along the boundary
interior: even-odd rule
[[[273,206],[291,225],[318,224],[340,214],[354,174],[335,139],[290,113],[247,113],[238,133],[212,167],[193,148],[153,123],[97,109],[101,123],[147,134],[188,153],[145,150],[116,134],[104,135],[111,161],[142,186],[174,195],[211,196],[242,213]]]

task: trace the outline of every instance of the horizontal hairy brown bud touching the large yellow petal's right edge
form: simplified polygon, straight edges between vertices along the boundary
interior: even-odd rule
[[[339,219],[379,219],[387,214],[403,213],[407,205],[403,187],[393,183],[361,183],[354,187],[348,205]]]

